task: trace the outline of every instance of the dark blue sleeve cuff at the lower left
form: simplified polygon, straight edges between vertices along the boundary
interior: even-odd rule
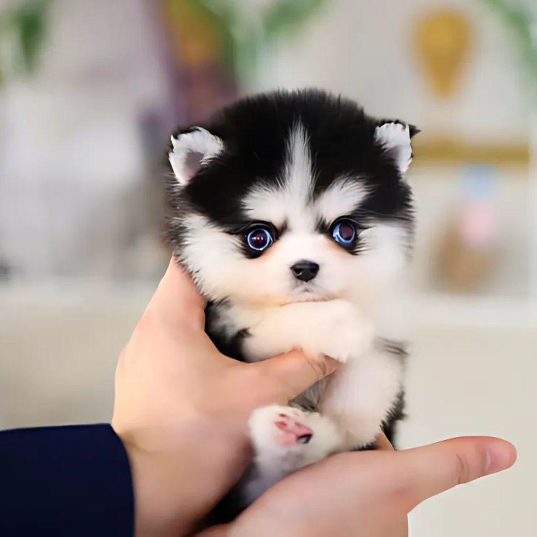
[[[133,535],[125,447],[110,425],[0,432],[0,535]]]

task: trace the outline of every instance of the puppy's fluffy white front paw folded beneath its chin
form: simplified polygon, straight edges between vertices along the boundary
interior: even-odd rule
[[[315,303],[304,318],[301,347],[311,358],[324,354],[345,362],[365,352],[373,342],[373,323],[351,302],[331,300]]]

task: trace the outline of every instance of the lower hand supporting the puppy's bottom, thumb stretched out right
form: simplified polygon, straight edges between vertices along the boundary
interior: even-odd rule
[[[232,523],[201,535],[405,537],[407,514],[423,500],[505,470],[516,460],[509,442],[490,437],[454,438],[398,452],[385,437],[379,444],[377,451],[333,455],[296,471]]]

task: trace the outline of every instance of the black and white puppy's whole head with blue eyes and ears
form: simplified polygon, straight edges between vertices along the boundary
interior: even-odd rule
[[[245,99],[178,133],[177,256],[209,300],[371,299],[410,246],[412,134],[318,91]]]

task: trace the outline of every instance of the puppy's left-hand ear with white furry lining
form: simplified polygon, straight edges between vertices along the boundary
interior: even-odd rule
[[[222,140],[202,127],[171,137],[170,164],[181,186],[186,186],[202,165],[224,148]]]

